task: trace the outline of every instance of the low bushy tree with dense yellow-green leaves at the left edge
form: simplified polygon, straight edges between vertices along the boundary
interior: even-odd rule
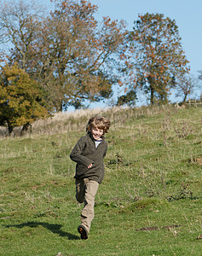
[[[0,125],[9,129],[31,124],[36,119],[47,118],[47,108],[43,106],[42,90],[38,83],[15,64],[6,65],[0,72]]]

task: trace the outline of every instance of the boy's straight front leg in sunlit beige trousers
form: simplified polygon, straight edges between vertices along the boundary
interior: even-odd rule
[[[89,229],[91,222],[94,218],[94,205],[95,205],[95,195],[99,187],[99,183],[94,180],[89,180],[84,178],[85,183],[85,196],[84,196],[84,209],[81,213],[81,225],[87,230],[89,234]]]

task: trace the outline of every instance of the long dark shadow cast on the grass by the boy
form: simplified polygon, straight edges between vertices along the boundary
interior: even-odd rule
[[[22,229],[24,227],[37,228],[39,225],[43,226],[47,230],[50,230],[54,234],[58,234],[59,236],[63,236],[63,237],[66,236],[68,238],[68,240],[80,239],[78,236],[74,236],[70,233],[62,231],[61,230],[62,225],[59,225],[59,224],[49,224],[49,223],[45,223],[45,222],[26,222],[26,223],[16,224],[16,225],[7,225],[6,227],[7,228],[14,227],[14,228]]]

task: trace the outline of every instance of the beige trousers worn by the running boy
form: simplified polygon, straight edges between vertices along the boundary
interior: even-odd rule
[[[89,233],[91,222],[95,216],[94,205],[95,195],[99,187],[99,183],[89,178],[76,179],[76,198],[79,203],[84,202],[84,208],[81,212],[81,224],[84,225]]]

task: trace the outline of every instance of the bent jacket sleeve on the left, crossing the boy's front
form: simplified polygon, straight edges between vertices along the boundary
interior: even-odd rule
[[[75,145],[75,147],[72,149],[72,153],[70,154],[71,160],[78,164],[82,164],[84,166],[89,166],[90,164],[93,164],[92,160],[89,160],[86,156],[82,155],[84,151],[85,143],[82,138],[78,140],[78,143]]]

